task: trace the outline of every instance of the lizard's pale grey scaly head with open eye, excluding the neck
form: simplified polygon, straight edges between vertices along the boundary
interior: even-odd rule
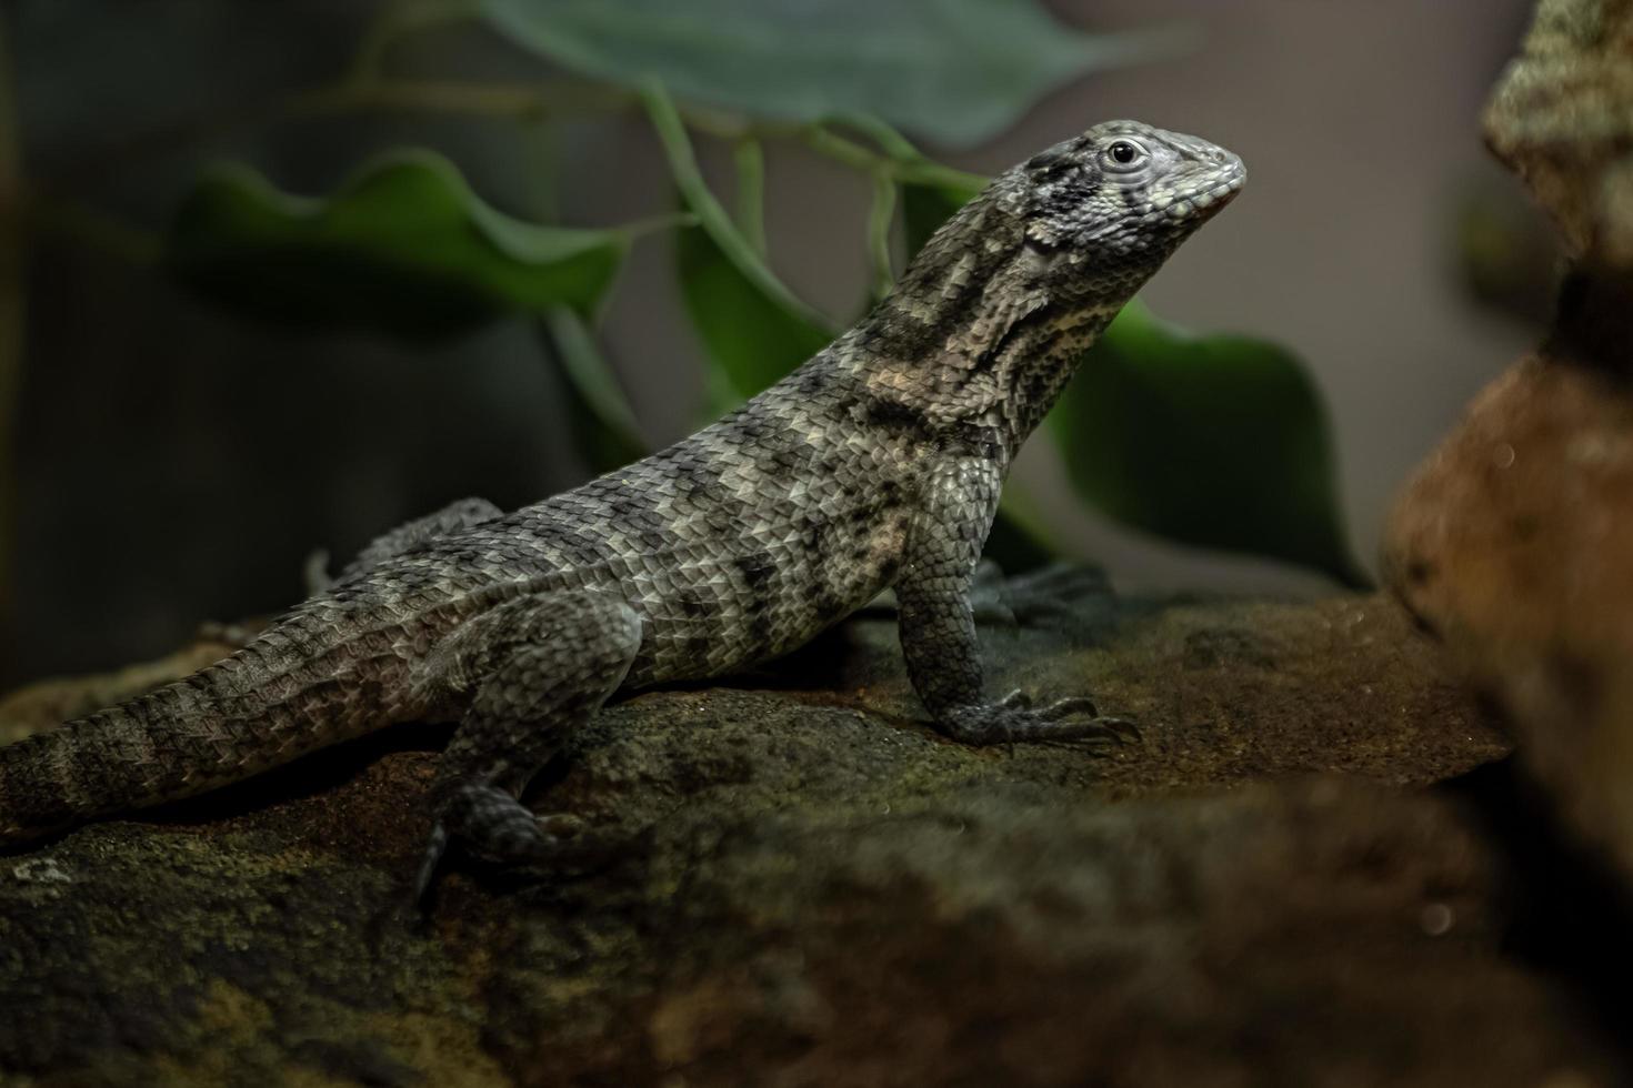
[[[993,189],[1024,223],[1026,248],[1043,258],[1035,266],[1055,272],[1045,279],[1143,281],[1246,178],[1239,158],[1207,140],[1107,121],[1014,166]]]

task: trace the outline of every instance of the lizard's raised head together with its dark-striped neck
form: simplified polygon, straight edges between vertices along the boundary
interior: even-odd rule
[[[1083,349],[1246,176],[1194,135],[1097,124],[993,178],[834,357],[936,422],[1001,418],[1016,447]]]

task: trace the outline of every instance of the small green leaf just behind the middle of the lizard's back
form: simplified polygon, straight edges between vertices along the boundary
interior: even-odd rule
[[[678,232],[674,245],[686,313],[712,367],[738,396],[779,382],[833,339],[745,276],[702,227]]]

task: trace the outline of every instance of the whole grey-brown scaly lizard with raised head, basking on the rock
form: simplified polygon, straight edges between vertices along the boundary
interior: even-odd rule
[[[1133,121],[1027,158],[719,422],[509,514],[465,499],[402,525],[229,657],[0,747],[0,843],[454,721],[416,896],[456,840],[549,865],[578,822],[521,791],[606,700],[777,657],[892,587],[908,679],[950,739],[1128,736],[1086,695],[988,698],[968,590],[1021,444],[1244,179],[1236,155]]]

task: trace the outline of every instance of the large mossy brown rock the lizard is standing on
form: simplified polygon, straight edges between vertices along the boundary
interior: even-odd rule
[[[1431,783],[1502,741],[1377,597],[1099,597],[994,687],[1140,745],[931,732],[887,617],[604,713],[536,789],[621,850],[390,912],[446,736],[408,728],[0,860],[28,1083],[1615,1083],[1507,948],[1507,860]],[[10,1081],[7,1081],[10,1083]]]

